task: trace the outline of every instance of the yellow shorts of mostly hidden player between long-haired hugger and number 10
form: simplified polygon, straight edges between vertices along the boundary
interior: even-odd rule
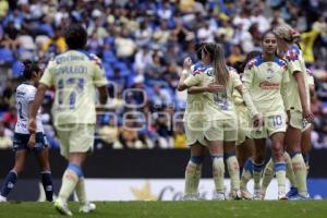
[[[238,140],[235,142],[235,145],[241,145],[246,137],[251,137],[250,122],[252,119],[245,106],[244,107],[240,106],[235,108],[237,108],[235,111],[237,111],[238,122],[239,122]]]

